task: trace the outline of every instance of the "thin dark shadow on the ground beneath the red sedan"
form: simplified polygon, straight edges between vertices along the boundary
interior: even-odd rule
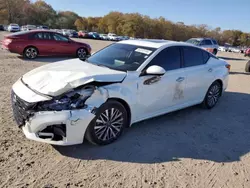
[[[67,59],[73,59],[75,57],[60,57],[60,56],[54,56],[54,57],[37,57],[36,59],[27,59],[23,56],[18,56],[19,59],[27,62],[39,62],[39,63],[55,63],[58,61],[64,61]]]

